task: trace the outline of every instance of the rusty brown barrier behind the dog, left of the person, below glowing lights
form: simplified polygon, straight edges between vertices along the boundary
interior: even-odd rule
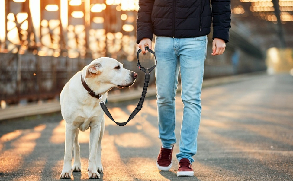
[[[125,57],[117,59],[124,64],[124,68],[138,74],[137,82],[132,88],[142,87],[144,73],[137,68],[137,62],[130,62]],[[146,56],[144,59],[151,57]],[[0,53],[0,100],[11,104],[18,103],[22,99],[35,101],[59,97],[69,79],[91,61],[90,58]],[[143,62],[146,67],[151,67],[153,64],[153,61]],[[155,76],[152,75],[150,86],[154,84],[154,80]]]

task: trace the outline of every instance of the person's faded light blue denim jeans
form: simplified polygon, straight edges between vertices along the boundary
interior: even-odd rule
[[[156,36],[154,51],[157,88],[159,138],[163,148],[176,143],[175,97],[179,69],[181,73],[181,99],[184,104],[177,160],[188,158],[192,163],[197,151],[197,135],[201,118],[201,85],[208,37],[171,38]]]

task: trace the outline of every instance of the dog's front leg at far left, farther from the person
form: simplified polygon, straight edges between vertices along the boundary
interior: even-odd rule
[[[73,125],[66,123],[65,126],[65,155],[63,170],[60,175],[61,179],[71,178],[71,162],[72,162],[72,148],[76,134],[76,128]]]

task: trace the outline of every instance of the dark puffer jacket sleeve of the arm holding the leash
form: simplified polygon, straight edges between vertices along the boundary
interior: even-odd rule
[[[139,0],[139,9],[137,12],[137,41],[139,44],[143,38],[153,39],[153,24],[152,24],[152,10],[154,0]]]

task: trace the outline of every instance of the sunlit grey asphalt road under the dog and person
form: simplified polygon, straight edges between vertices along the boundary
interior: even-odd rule
[[[292,181],[293,77],[262,76],[202,90],[202,119],[194,177],[177,177],[156,168],[160,148],[156,97],[126,126],[106,118],[102,140],[105,181]],[[124,122],[138,100],[108,103],[115,120]],[[183,103],[176,97],[179,137]],[[60,113],[0,122],[0,180],[60,180],[64,156],[64,121]],[[178,139],[179,140],[179,139]],[[71,180],[87,180],[89,130],[80,132],[82,172]]]

